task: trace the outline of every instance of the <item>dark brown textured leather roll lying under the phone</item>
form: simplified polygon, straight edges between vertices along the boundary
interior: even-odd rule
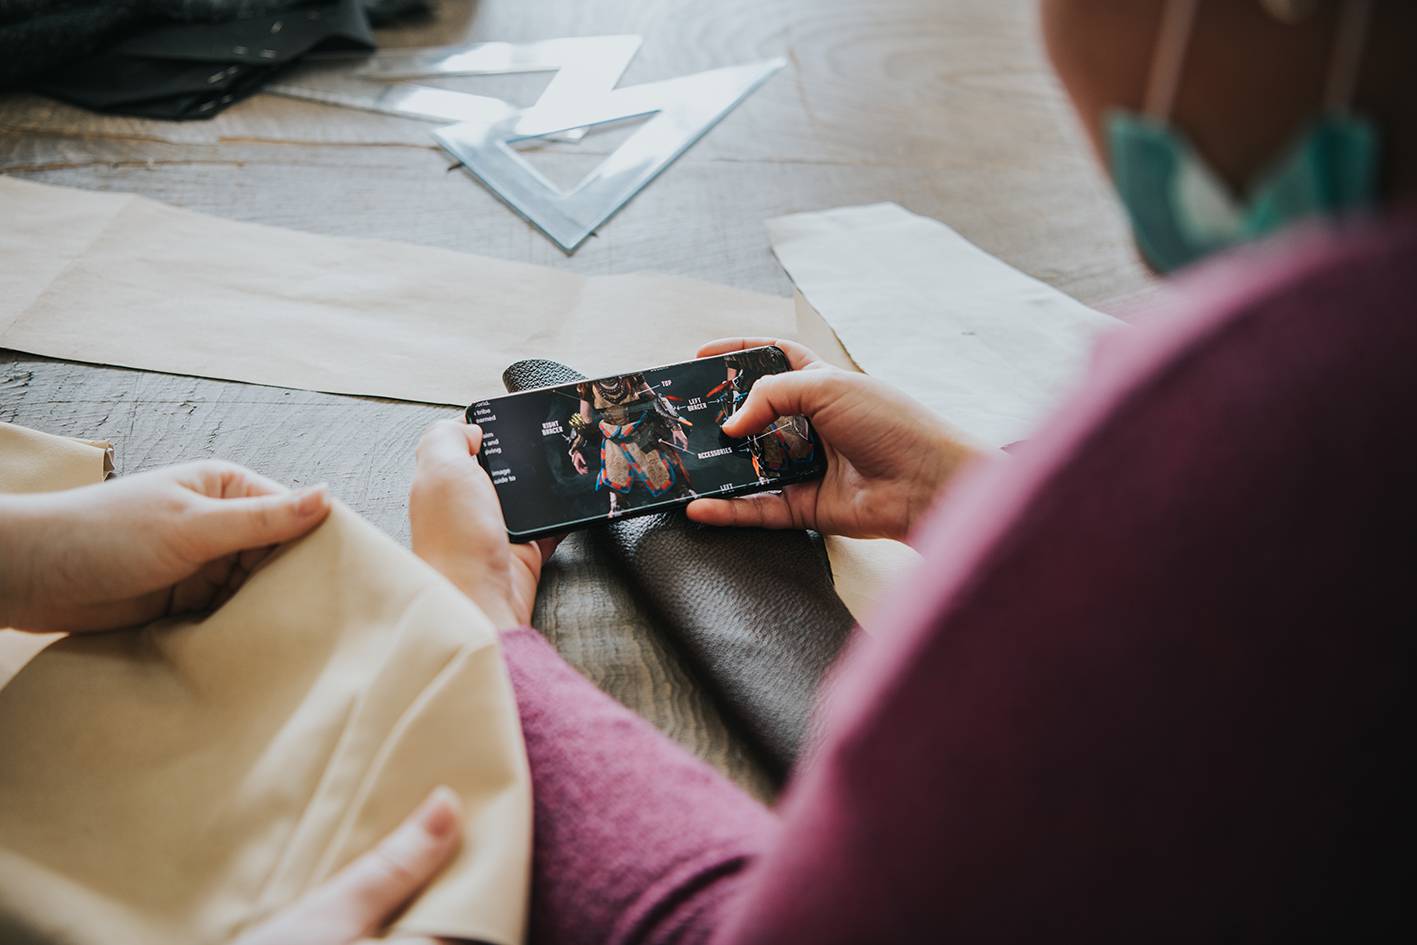
[[[555,361],[517,361],[509,391],[585,377]],[[812,706],[852,633],[820,540],[806,531],[707,528],[667,511],[589,530],[723,714],[784,776],[806,741]]]

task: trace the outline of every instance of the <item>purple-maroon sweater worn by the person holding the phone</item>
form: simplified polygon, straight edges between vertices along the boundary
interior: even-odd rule
[[[533,945],[1410,941],[1417,217],[1180,288],[951,490],[777,812],[504,636]]]

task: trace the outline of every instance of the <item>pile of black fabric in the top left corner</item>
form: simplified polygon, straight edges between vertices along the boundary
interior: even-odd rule
[[[96,112],[211,118],[309,52],[374,48],[428,0],[0,0],[0,88]]]

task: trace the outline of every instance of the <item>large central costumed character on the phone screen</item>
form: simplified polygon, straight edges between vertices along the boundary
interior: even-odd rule
[[[679,451],[687,451],[690,424],[643,374],[625,374],[577,385],[581,407],[571,417],[571,465],[589,475],[587,449],[601,436],[595,489],[609,493],[609,514],[628,509],[636,492],[653,499],[694,494]]]

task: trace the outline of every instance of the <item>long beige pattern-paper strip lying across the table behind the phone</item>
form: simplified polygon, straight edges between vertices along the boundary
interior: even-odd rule
[[[789,299],[587,278],[317,237],[0,177],[0,347],[95,364],[466,407],[529,357],[592,377],[791,337]]]

